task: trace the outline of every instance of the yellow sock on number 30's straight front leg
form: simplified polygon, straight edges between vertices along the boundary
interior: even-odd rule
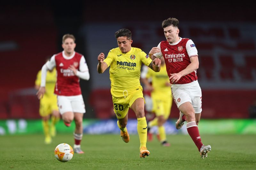
[[[138,130],[138,134],[139,134],[139,138],[140,138],[140,148],[142,146],[146,147],[146,143],[147,143],[147,121],[146,121],[146,117],[142,117],[142,118],[137,118],[138,120],[138,125],[137,125],[137,130]]]

